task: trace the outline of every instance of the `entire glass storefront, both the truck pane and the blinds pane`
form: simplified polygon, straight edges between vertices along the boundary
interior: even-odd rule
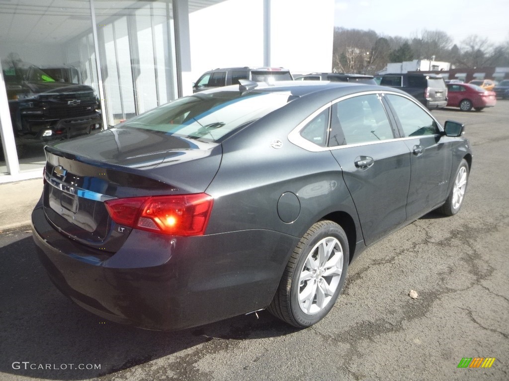
[[[12,127],[0,128],[14,136],[19,171],[42,168],[53,140],[99,132],[177,98],[172,14],[171,0],[2,4],[9,111],[0,111]],[[9,172],[4,151],[0,173]]]

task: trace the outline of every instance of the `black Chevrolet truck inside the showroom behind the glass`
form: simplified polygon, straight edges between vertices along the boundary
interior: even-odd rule
[[[101,127],[94,88],[56,81],[35,66],[3,75],[16,145],[69,139]]]

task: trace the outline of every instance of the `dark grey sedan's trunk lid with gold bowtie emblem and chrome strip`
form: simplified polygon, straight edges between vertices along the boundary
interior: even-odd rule
[[[44,211],[62,234],[116,252],[131,228],[110,218],[104,201],[204,192],[221,146],[151,131],[105,131],[47,146]]]

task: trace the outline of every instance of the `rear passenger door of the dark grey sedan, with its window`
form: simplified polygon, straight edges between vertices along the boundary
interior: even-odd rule
[[[343,170],[366,244],[406,221],[410,153],[377,93],[332,105],[329,146]]]

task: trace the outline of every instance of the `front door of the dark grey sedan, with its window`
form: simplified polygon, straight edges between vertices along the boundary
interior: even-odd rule
[[[451,142],[442,137],[438,122],[420,105],[399,94],[385,94],[410,150],[411,178],[407,219],[414,220],[446,198],[451,174]]]

